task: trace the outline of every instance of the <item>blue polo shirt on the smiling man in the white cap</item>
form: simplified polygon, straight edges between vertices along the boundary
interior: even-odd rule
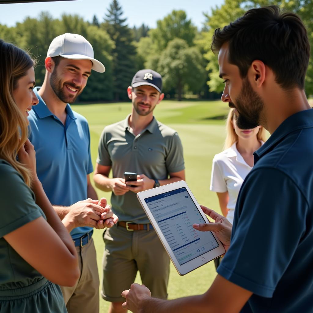
[[[28,116],[37,175],[53,205],[69,206],[87,198],[87,174],[93,171],[88,123],[68,104],[64,126],[38,95],[39,89],[34,89],[39,103]],[[71,236],[80,238],[91,229],[74,228]]]

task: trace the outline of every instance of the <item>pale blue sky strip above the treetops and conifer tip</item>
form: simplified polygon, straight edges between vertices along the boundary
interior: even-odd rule
[[[23,22],[27,16],[38,17],[41,11],[48,11],[54,18],[59,18],[62,13],[79,14],[88,21],[96,15],[102,22],[110,2],[111,0],[75,0],[0,4],[0,24],[14,26],[16,22]],[[156,21],[174,9],[185,10],[193,24],[201,28],[204,22],[202,13],[210,13],[212,7],[221,6],[223,2],[223,0],[119,0],[130,27],[145,23],[150,28],[155,28]]]

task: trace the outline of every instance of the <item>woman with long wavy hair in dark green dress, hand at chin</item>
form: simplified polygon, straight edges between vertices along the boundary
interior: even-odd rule
[[[38,103],[33,67],[26,52],[0,40],[0,312],[65,313],[55,284],[79,278],[74,222],[64,227],[36,174],[27,139],[28,111]]]

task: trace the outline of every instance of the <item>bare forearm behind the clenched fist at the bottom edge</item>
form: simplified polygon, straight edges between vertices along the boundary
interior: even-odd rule
[[[204,295],[196,295],[175,300],[160,300],[147,297],[140,303],[140,313],[210,313],[218,310],[209,311],[209,303]]]

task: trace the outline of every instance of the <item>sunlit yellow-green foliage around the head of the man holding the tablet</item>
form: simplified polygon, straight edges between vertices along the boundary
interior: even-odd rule
[[[212,42],[212,36],[214,30],[219,27],[228,25],[231,21],[239,18],[244,12],[250,8],[266,6],[266,5],[278,5],[287,11],[297,13],[304,22],[307,31],[309,41],[311,43],[311,51],[313,49],[313,2],[311,0],[251,0],[251,1],[237,1],[237,0],[225,0],[225,3],[221,7],[212,9],[210,15],[206,14],[208,31],[202,33],[202,39],[200,44],[207,51],[204,54],[208,60],[207,70],[209,71],[208,85],[210,91],[221,92],[223,90],[223,84],[218,77],[219,67],[217,57],[212,53],[210,44]],[[305,90],[308,95],[313,95],[313,57],[311,55],[309,67],[305,78]]]

